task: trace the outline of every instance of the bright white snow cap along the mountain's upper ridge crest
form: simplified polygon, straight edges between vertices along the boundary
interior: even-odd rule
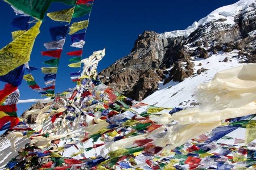
[[[214,10],[210,12],[209,15],[205,16],[204,18],[200,19],[199,22],[194,22],[191,26],[189,26],[187,29],[184,30],[176,30],[171,32],[164,32],[160,34],[160,37],[179,37],[184,36],[188,37],[193,31],[195,31],[200,25],[205,25],[212,20],[217,19],[226,19],[226,24],[234,24],[234,17],[241,10],[244,10],[248,6],[250,6],[252,3],[255,3],[255,0],[240,0],[232,5],[223,6],[220,8],[217,8],[217,10]]]

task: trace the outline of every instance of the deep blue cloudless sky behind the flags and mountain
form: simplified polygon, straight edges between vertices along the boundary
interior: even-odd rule
[[[230,5],[237,1],[234,0],[184,0],[184,1],[117,1],[117,0],[95,0],[92,14],[90,15],[89,27],[86,32],[84,51],[82,58],[86,58],[95,50],[101,50],[106,47],[106,56],[100,62],[98,71],[105,69],[115,60],[125,57],[133,48],[138,35],[145,30],[163,33],[177,29],[185,29],[193,22],[200,20],[204,16],[218,7]],[[0,48],[11,41],[11,31],[15,29],[10,23],[15,17],[13,9],[5,2],[0,1],[1,31]],[[61,3],[53,3],[48,12],[69,8]],[[79,18],[85,20],[88,16]],[[74,20],[72,20],[74,22]],[[59,22],[53,22],[47,16],[40,28],[40,35],[36,38],[34,49],[31,54],[30,66],[42,67],[43,61],[53,59],[51,57],[42,57],[40,52],[46,50],[44,42],[50,42],[51,37],[48,28],[51,25],[57,25]],[[66,23],[61,23],[66,24]],[[72,50],[71,41],[67,37],[63,48],[63,55],[60,59],[60,65],[56,79],[56,92],[62,92],[69,87],[75,87],[70,80],[69,73],[77,69],[69,68],[68,57],[65,53]],[[40,87],[44,86],[43,74],[40,70],[32,72],[36,82]],[[3,88],[3,83],[0,83]],[[28,88],[23,81],[19,87],[21,99],[39,99],[41,96]],[[30,104],[19,104],[18,114],[26,110]]]

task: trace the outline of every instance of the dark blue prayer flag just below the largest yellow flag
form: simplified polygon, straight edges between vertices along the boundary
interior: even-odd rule
[[[18,67],[16,67],[16,69],[11,70],[6,75],[1,75],[0,81],[6,82],[13,86],[18,87],[22,83],[24,70],[25,70],[24,65],[18,66]]]

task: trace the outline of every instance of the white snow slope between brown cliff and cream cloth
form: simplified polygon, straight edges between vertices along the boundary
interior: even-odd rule
[[[229,69],[240,65],[238,61],[238,51],[234,50],[230,53],[220,53],[213,55],[207,59],[196,58],[193,63],[194,75],[185,79],[183,82],[169,82],[163,85],[163,82],[159,84],[159,90],[154,94],[146,97],[142,102],[146,104],[155,105],[157,107],[193,107],[198,105],[195,99],[195,92],[197,86],[201,83],[209,82],[213,76],[222,70]],[[222,62],[225,58],[228,62]],[[207,71],[196,74],[196,70],[201,68],[207,69]]]

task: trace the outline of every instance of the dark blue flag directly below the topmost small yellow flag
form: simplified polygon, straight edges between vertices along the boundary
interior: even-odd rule
[[[68,25],[58,25],[49,28],[52,41],[64,39],[68,32]]]

